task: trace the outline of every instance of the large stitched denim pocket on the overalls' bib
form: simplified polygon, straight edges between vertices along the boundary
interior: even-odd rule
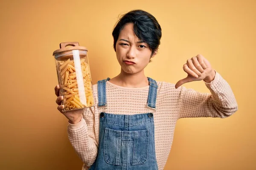
[[[104,159],[108,164],[133,166],[148,159],[149,130],[121,131],[105,128]]]

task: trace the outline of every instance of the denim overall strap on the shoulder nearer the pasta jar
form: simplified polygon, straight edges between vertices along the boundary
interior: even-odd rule
[[[110,78],[100,80],[97,82],[98,85],[98,107],[107,106],[106,101],[106,81],[110,80]]]

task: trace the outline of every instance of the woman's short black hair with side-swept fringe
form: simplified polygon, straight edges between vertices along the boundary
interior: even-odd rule
[[[153,54],[156,54],[162,37],[162,29],[157,22],[157,19],[143,10],[129,11],[128,13],[123,14],[118,20],[112,32],[114,38],[114,50],[116,51],[116,42],[121,30],[128,23],[134,24],[134,33],[136,36],[149,45],[149,48],[152,51],[151,57]]]

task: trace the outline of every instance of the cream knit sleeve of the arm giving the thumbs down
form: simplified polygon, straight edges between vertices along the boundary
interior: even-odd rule
[[[216,72],[215,79],[204,82],[210,91],[200,93],[182,86],[180,91],[179,118],[220,117],[226,118],[238,110],[238,105],[230,85]]]

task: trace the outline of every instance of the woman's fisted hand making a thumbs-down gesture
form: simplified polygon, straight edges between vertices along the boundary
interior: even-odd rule
[[[183,70],[188,74],[188,76],[178,81],[175,88],[178,88],[187,82],[199,80],[211,82],[215,77],[215,71],[212,69],[211,64],[201,54],[188,59],[186,64],[183,65]]]

